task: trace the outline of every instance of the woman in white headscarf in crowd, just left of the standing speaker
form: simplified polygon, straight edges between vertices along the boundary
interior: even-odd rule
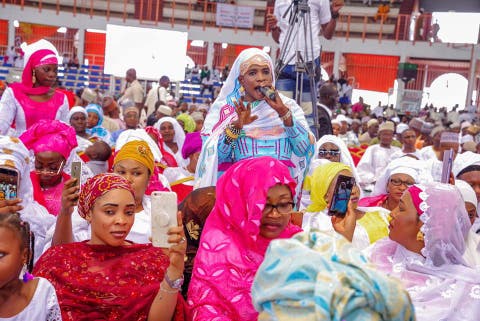
[[[185,160],[182,157],[182,147],[185,143],[185,132],[175,118],[162,117],[154,126],[162,135],[163,149],[169,155],[175,157],[174,167],[183,166]]]

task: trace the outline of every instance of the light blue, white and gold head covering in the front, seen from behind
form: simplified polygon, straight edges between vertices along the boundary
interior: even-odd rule
[[[408,293],[337,233],[274,240],[252,286],[259,320],[415,320]]]

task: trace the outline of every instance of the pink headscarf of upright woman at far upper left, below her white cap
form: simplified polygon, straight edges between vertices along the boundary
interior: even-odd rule
[[[10,85],[13,90],[20,90],[26,95],[43,95],[46,94],[51,87],[38,86],[33,87],[32,77],[33,71],[38,66],[58,65],[58,59],[55,52],[49,49],[41,49],[35,51],[27,61],[22,73],[22,82]]]

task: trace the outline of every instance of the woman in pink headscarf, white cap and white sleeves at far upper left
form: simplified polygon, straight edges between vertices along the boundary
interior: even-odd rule
[[[0,99],[0,135],[6,135],[12,124],[12,135],[20,136],[42,119],[68,122],[68,98],[55,90],[57,49],[42,39],[25,49],[24,59],[21,82],[10,84]]]

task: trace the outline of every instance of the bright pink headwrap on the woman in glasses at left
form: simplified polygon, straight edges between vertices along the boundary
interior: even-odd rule
[[[35,154],[57,152],[65,159],[78,146],[75,129],[59,120],[40,120],[19,138]]]

